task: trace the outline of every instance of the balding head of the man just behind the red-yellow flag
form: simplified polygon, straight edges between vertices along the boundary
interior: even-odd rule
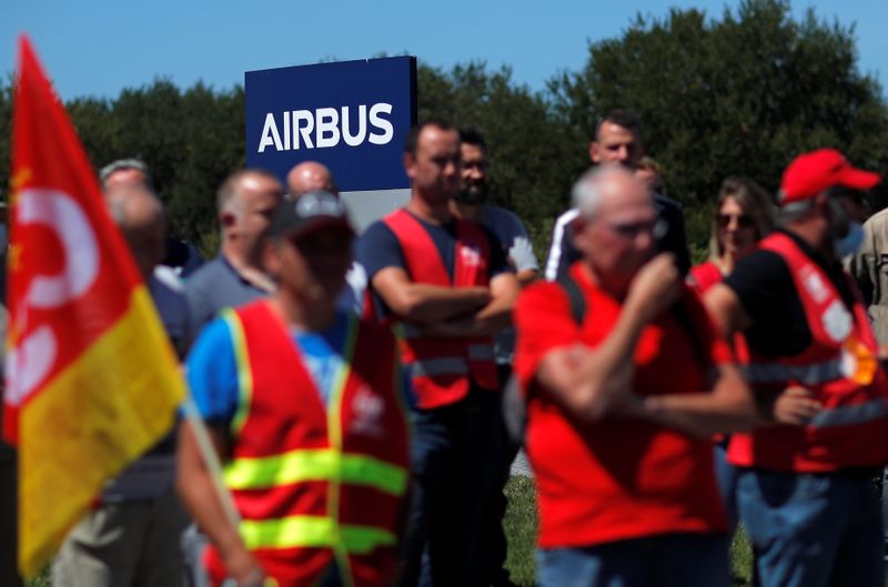
[[[165,252],[163,205],[150,188],[138,183],[109,188],[105,200],[142,279],[148,280]]]

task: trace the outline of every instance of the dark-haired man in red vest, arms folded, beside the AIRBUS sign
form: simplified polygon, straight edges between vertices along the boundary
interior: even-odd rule
[[[425,122],[407,136],[407,205],[359,242],[373,310],[397,323],[415,431],[410,530],[401,585],[474,585],[482,514],[496,489],[500,402],[491,335],[508,325],[517,282],[496,237],[451,212],[460,135]],[[427,564],[423,563],[424,555]]]

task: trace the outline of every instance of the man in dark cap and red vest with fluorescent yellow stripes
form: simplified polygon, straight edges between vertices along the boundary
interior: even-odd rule
[[[391,328],[336,308],[352,236],[330,193],[281,203],[263,245],[275,293],[223,311],[188,358],[241,518],[223,514],[184,427],[179,490],[212,543],[214,585],[394,580],[410,479],[405,402]]]

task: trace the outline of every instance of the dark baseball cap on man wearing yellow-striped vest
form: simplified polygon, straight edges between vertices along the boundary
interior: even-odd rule
[[[269,236],[302,236],[326,227],[354,234],[349,211],[339,198],[324,191],[309,192],[278,205],[271,216]]]

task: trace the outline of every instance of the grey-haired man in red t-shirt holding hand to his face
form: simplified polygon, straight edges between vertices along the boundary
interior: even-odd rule
[[[730,350],[616,166],[574,188],[582,257],[515,311],[543,587],[728,585],[710,435],[755,414]]]

